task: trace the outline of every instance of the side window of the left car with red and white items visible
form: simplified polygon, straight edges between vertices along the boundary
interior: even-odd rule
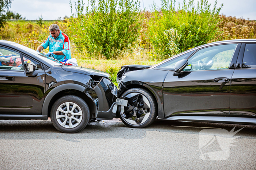
[[[0,47],[0,69],[24,70],[20,54],[8,48]]]

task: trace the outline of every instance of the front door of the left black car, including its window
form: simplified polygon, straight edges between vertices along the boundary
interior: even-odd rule
[[[0,114],[40,115],[45,95],[42,64],[6,47],[0,47]],[[36,75],[26,75],[24,63],[37,65]]]

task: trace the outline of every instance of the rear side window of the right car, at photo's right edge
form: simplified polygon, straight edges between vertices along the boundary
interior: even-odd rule
[[[256,68],[256,44],[246,44],[242,68]]]

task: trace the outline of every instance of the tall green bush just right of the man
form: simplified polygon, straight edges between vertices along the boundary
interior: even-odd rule
[[[90,0],[83,14],[83,0],[78,0],[69,20],[74,43],[85,47],[90,55],[116,58],[118,51],[139,37],[139,5],[138,0]]]

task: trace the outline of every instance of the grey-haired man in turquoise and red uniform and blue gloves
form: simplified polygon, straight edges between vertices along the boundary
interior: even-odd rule
[[[46,49],[49,46],[49,52],[47,56],[53,55],[55,59],[62,61],[64,59],[71,59],[70,41],[67,35],[65,35],[57,24],[52,24],[49,27],[50,35],[37,48],[38,52]]]

